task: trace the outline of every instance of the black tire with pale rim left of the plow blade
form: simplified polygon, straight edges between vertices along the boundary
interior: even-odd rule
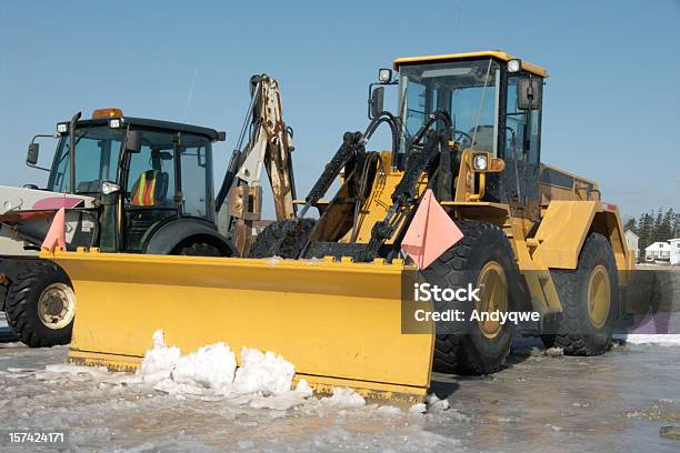
[[[31,348],[68,344],[76,314],[71,280],[52,263],[28,266],[9,286],[6,314],[10,329]]]

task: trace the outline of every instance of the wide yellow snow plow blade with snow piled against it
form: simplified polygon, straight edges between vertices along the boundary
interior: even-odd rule
[[[272,351],[320,392],[418,402],[433,335],[401,333],[401,262],[43,252],[77,295],[69,361],[134,370],[158,329],[183,354],[223,341]]]

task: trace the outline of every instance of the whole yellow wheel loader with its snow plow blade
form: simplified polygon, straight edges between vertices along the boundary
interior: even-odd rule
[[[369,88],[368,128],[344,134],[299,215],[268,226],[250,258],[46,253],[80,301],[69,360],[134,369],[163,329],[184,353],[217,341],[273,351],[320,391],[412,402],[432,368],[502,368],[514,323],[499,314],[536,312],[548,344],[603,353],[631,255],[597,183],[541,163],[546,70],[500,51],[393,69]],[[382,109],[389,85],[396,113]],[[384,124],[391,150],[368,151]],[[462,239],[419,270],[402,241],[426,193]],[[304,218],[311,209],[318,219]],[[477,319],[418,318],[447,311],[413,300],[423,280],[479,294],[458,305]],[[124,322],[112,328],[111,313]]]

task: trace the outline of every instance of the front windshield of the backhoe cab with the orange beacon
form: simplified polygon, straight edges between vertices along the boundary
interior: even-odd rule
[[[122,135],[121,130],[108,125],[76,129],[76,193],[96,193],[102,181],[117,180]],[[73,192],[69,135],[59,141],[48,190]]]

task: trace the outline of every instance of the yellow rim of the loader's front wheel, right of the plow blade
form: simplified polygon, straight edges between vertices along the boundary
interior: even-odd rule
[[[506,312],[508,310],[508,282],[503,268],[496,261],[489,261],[482,268],[477,281],[480,289],[480,300],[476,303],[478,313],[482,312]],[[499,321],[484,320],[477,321],[477,325],[482,334],[489,339],[498,336],[503,326]]]

